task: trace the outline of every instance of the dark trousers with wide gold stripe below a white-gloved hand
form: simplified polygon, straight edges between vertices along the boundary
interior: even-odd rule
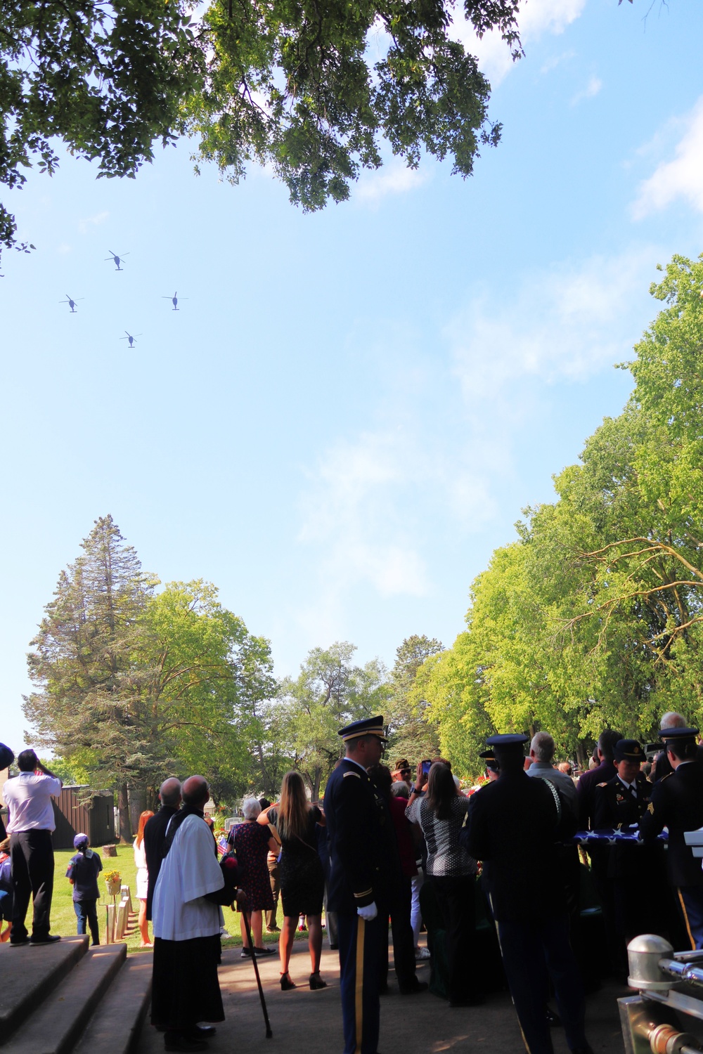
[[[337,912],[345,1054],[377,1051],[383,921],[378,915],[365,922],[356,913]],[[383,936],[388,944],[388,918],[385,925]]]

